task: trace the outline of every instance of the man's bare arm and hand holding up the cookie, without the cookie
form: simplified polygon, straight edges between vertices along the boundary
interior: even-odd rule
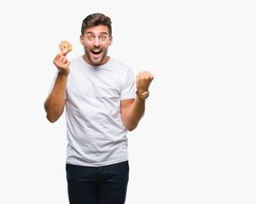
[[[65,94],[70,65],[66,55],[67,52],[60,53],[57,54],[54,59],[54,64],[58,68],[59,73],[55,80],[55,87],[44,102],[44,109],[49,122],[56,122],[65,108]]]

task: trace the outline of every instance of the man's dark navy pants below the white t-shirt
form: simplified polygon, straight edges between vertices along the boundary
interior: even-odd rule
[[[124,204],[129,179],[128,161],[104,167],[67,164],[70,204]]]

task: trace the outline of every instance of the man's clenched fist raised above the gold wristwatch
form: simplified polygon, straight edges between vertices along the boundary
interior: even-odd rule
[[[144,93],[148,91],[149,85],[154,79],[154,76],[149,71],[140,72],[137,77],[137,91],[140,93]]]

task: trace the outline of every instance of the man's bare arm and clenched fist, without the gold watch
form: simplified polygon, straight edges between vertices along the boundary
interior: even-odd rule
[[[137,75],[137,91],[144,93],[148,91],[148,87],[152,80],[153,75],[149,71],[143,71]],[[136,99],[126,99],[121,101],[121,115],[124,126],[127,130],[134,130],[138,122],[142,119],[145,112],[145,100]]]

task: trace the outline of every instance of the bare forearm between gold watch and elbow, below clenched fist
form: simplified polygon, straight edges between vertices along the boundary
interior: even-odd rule
[[[144,112],[145,100],[137,97],[123,117],[123,123],[126,129],[129,131],[134,130],[142,119]]]

